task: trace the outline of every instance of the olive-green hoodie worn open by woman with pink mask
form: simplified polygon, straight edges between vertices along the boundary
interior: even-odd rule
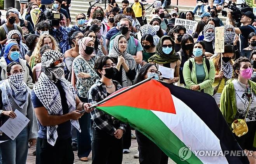
[[[225,120],[227,121],[228,125],[231,128],[231,124],[235,120],[235,115],[237,114],[237,105],[235,101],[235,88],[234,84],[232,83],[233,79],[230,79],[226,82],[226,85],[221,94],[220,100],[220,109],[221,113],[223,114]],[[256,83],[248,80],[249,86],[252,86],[252,92],[256,94]],[[244,118],[241,118],[244,119]],[[253,147],[256,147],[256,135],[254,136]]]

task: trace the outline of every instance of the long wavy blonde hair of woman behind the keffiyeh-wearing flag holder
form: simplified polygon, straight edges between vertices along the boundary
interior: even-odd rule
[[[44,46],[44,39],[45,38],[50,38],[51,42],[53,43],[53,50],[59,51],[58,44],[57,44],[56,40],[53,38],[53,36],[51,36],[50,34],[40,35],[40,37],[37,41],[37,44],[35,46],[35,49],[34,49],[32,55],[30,57],[30,61],[29,61],[29,66],[30,67],[32,65],[32,62],[34,62],[34,65],[36,65],[37,63],[41,63],[40,48],[42,46]],[[33,61],[33,59],[35,59],[35,60]]]

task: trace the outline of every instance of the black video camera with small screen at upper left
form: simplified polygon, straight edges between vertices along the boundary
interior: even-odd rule
[[[51,26],[59,26],[60,20],[63,19],[63,15],[55,9],[48,9],[45,5],[40,7],[40,15],[37,22],[41,22],[42,20],[47,20]]]

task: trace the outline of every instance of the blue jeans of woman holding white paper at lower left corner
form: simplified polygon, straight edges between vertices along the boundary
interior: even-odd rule
[[[28,126],[14,139],[0,144],[2,164],[26,164],[28,155]]]

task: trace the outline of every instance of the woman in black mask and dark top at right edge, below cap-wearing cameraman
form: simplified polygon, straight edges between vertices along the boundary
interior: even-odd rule
[[[241,56],[245,56],[247,58],[250,57],[251,52],[253,50],[256,50],[256,32],[251,32],[248,36],[248,42],[249,42],[249,46],[247,48],[244,48],[241,51]]]

